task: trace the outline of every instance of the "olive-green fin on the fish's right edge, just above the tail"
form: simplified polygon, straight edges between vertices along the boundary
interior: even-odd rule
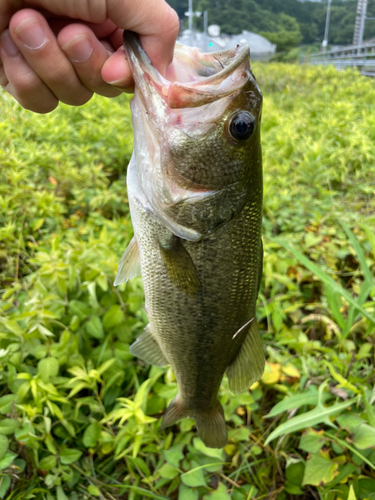
[[[254,320],[235,360],[227,368],[229,389],[234,393],[247,391],[263,375],[264,363],[262,341]]]

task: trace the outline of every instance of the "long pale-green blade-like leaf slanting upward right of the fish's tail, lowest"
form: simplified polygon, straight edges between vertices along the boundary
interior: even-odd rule
[[[276,427],[276,429],[268,436],[265,444],[268,444],[270,441],[282,436],[283,434],[290,434],[291,432],[300,431],[301,429],[313,427],[318,424],[324,423],[330,427],[335,427],[329,420],[329,417],[345,410],[345,408],[354,404],[356,399],[350,399],[344,401],[343,403],[337,403],[333,406],[325,407],[322,404],[322,395],[326,384],[327,382],[323,382],[323,384],[320,385],[318,404],[313,410],[303,413],[302,415],[297,415],[296,417],[293,417]]]

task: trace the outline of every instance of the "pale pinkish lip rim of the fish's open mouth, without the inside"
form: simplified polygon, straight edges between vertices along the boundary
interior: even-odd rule
[[[236,70],[239,70],[241,65],[244,65],[250,59],[250,49],[247,44],[238,44],[236,47],[209,54],[209,56],[202,52],[202,57],[216,59],[222,69],[211,76],[198,77],[194,82],[171,82],[164,78],[153,66],[136,33],[124,31],[123,40],[136,87],[140,90],[145,104],[146,101],[149,101],[150,94],[153,94],[154,105],[161,105],[163,108],[181,109],[202,106],[226,97],[242,88],[251,75],[251,72],[244,68],[237,85],[234,78],[231,79],[231,75],[234,75]],[[193,50],[196,49],[192,48]],[[224,66],[219,57],[228,64]],[[225,88],[218,89],[216,92],[213,91],[213,87],[227,80],[229,80],[230,84],[233,84],[228,85],[227,83],[223,86]],[[230,80],[233,80],[233,82]]]

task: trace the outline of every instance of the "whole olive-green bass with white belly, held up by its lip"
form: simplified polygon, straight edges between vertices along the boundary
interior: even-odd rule
[[[211,448],[227,443],[218,393],[264,371],[256,300],[262,276],[262,94],[248,45],[204,53],[176,44],[161,75],[124,32],[134,82],[127,193],[134,237],[115,279],[141,275],[149,320],[130,352],[171,365],[178,394],[160,429],[195,419]]]

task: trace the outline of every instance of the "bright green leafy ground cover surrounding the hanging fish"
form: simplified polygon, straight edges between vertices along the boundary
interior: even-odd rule
[[[375,498],[375,88],[258,65],[265,95],[265,374],[220,399],[224,450],[193,421],[158,432],[169,368],[129,354],[138,278],[128,98],[48,116],[0,94],[0,498]]]

